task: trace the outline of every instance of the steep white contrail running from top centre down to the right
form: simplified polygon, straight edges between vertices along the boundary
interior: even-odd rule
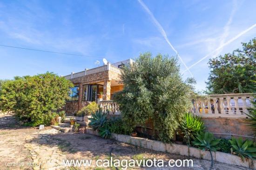
[[[187,65],[183,62],[182,58],[180,57],[179,53],[177,50],[175,50],[175,48],[172,46],[172,44],[170,43],[167,35],[166,35],[166,32],[164,31],[162,25],[155,19],[155,16],[153,15],[153,13],[151,13],[151,11],[148,9],[148,6],[146,6],[142,0],[138,0],[138,2],[141,4],[141,6],[146,10],[146,12],[148,13],[148,15],[150,16],[150,18],[152,19],[153,23],[155,24],[155,26],[157,27],[158,31],[160,31],[160,33],[162,34],[162,36],[164,37],[164,39],[166,40],[166,42],[170,45],[170,47],[172,48],[172,50],[175,51],[176,55],[179,57],[179,59],[181,60],[182,64],[186,67],[186,70],[185,71],[189,71],[190,75],[192,77],[194,77],[192,75],[192,73],[190,72],[189,68],[187,67]],[[184,71],[184,72],[185,72]]]

